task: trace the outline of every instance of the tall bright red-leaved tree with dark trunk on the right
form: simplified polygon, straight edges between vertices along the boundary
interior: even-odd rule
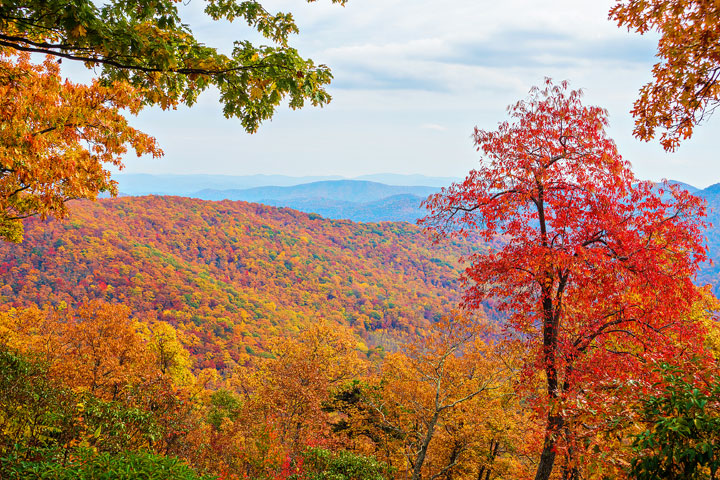
[[[559,451],[568,458],[571,400],[700,348],[687,319],[705,259],[704,204],[639,182],[605,133],[607,112],[580,97],[547,79],[509,108],[512,123],[476,128],[480,168],[430,197],[423,220],[437,238],[492,242],[469,259],[464,304],[496,303],[506,332],[537,353],[527,364],[545,382],[536,480],[550,477]]]

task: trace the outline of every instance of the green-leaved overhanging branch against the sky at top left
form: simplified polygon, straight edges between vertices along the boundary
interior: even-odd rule
[[[0,4],[0,46],[98,67],[103,82],[133,85],[146,105],[192,105],[213,86],[225,116],[239,118],[248,132],[269,119],[283,98],[292,108],[330,101],[324,88],[330,70],[288,44],[298,31],[291,14],[273,14],[256,0],[212,0],[205,14],[215,21],[244,20],[274,45],[239,40],[230,54],[206,46],[183,23],[174,0],[10,0]]]

